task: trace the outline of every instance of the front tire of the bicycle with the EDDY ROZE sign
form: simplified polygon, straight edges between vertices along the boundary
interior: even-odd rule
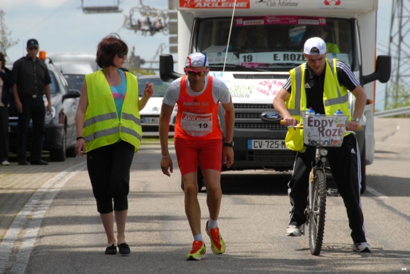
[[[322,249],[325,209],[326,175],[322,169],[317,169],[313,181],[313,208],[309,210],[309,245],[315,256]]]

